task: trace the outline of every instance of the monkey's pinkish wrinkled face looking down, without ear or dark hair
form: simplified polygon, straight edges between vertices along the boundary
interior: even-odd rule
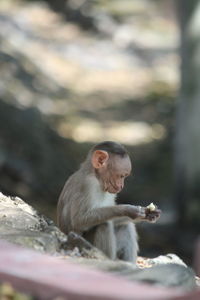
[[[131,173],[131,161],[129,156],[111,154],[95,170],[103,191],[117,194],[121,192],[125,178]]]

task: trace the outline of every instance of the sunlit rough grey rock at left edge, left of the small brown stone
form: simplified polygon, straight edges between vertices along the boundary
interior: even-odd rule
[[[9,242],[33,248],[35,250],[55,253],[60,246],[59,240],[47,220],[18,197],[10,198],[0,193],[0,238]]]

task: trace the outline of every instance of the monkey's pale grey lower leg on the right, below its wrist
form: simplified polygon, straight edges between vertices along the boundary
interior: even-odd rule
[[[117,258],[136,263],[139,250],[135,225],[131,222],[115,224]]]

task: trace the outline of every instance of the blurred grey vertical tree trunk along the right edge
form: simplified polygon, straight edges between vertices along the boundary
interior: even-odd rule
[[[181,87],[175,139],[180,225],[200,225],[200,1],[179,0]],[[196,227],[197,228],[197,227]]]

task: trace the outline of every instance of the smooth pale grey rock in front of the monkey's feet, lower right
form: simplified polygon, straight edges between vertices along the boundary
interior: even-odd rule
[[[132,263],[111,260],[94,260],[85,258],[73,259],[73,262],[87,265],[90,268],[106,271],[128,280],[145,282],[164,287],[179,287],[183,290],[192,290],[198,285],[192,269],[182,264],[158,264],[151,268],[140,269]]]

